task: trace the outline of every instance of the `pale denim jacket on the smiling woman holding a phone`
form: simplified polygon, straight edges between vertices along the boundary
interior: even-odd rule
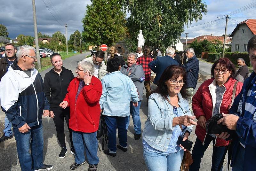
[[[178,94],[179,105],[183,111],[182,115],[192,116],[187,100]],[[170,98],[168,96],[168,98]],[[160,94],[153,93],[148,99],[148,119],[142,134],[143,139],[156,150],[166,152],[172,138],[173,108]],[[193,126],[184,129],[192,132]],[[185,132],[185,130],[183,130]],[[178,141],[178,139],[177,139]]]

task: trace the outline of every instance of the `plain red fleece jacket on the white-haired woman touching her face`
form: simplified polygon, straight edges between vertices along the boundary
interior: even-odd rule
[[[92,76],[91,84],[85,85],[76,99],[79,81],[76,77],[69,83],[68,93],[63,100],[70,106],[69,128],[92,133],[99,128],[102,84],[98,78]]]

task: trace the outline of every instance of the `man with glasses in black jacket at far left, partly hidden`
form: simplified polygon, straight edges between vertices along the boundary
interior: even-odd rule
[[[0,80],[4,74],[8,71],[9,66],[16,60],[16,51],[12,43],[5,44],[5,56],[0,59]],[[4,97],[3,97],[4,98]],[[4,135],[0,138],[0,143],[5,140],[11,139],[12,136],[12,124],[7,117],[4,118]]]

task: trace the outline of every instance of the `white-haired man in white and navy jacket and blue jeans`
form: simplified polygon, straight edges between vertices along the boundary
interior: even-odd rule
[[[16,56],[17,61],[1,79],[0,97],[6,97],[1,98],[2,110],[12,123],[21,170],[50,170],[52,165],[43,164],[42,125],[42,114],[48,117],[50,105],[35,69],[36,54],[32,46],[23,45]]]

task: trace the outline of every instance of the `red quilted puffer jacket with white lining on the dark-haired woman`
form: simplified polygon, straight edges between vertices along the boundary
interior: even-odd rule
[[[220,105],[220,113],[228,114],[228,106],[232,101],[232,93],[236,80],[229,78],[229,80],[224,84],[226,91],[223,94],[222,102]],[[216,102],[216,81],[214,78],[206,80],[196,91],[196,94],[192,99],[192,108],[196,119],[204,115],[206,121],[212,117]],[[236,85],[236,96],[240,93],[243,83],[238,82]],[[212,98],[213,97],[213,98]],[[202,128],[199,124],[196,125],[196,136],[204,144],[204,138],[206,136],[206,130]],[[220,139],[216,137],[215,146],[227,146],[229,141],[225,139]]]

